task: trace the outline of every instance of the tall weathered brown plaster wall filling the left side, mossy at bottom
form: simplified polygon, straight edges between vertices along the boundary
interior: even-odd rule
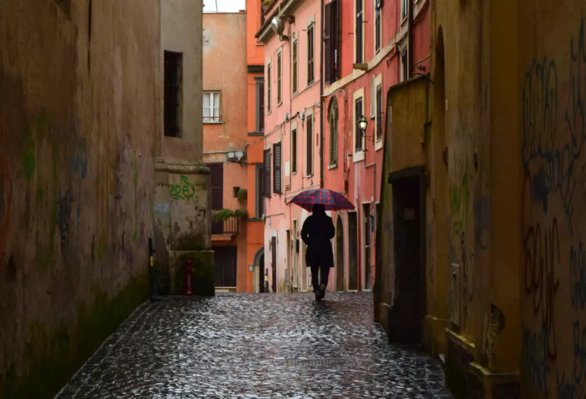
[[[3,398],[52,397],[148,295],[158,2],[70,3],[0,4]]]

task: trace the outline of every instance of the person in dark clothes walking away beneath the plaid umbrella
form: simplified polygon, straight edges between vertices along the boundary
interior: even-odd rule
[[[325,205],[314,204],[311,211],[312,214],[303,223],[301,239],[307,245],[305,265],[311,268],[315,300],[321,301],[326,295],[329,269],[333,267],[331,239],[335,236],[336,230],[332,218],[326,215]]]

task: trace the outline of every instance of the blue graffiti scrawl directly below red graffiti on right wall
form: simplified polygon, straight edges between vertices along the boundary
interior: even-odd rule
[[[542,390],[546,397],[549,394],[547,388],[550,374],[549,341],[549,332],[545,326],[542,326],[540,332],[534,333],[523,325],[523,366],[533,385]]]

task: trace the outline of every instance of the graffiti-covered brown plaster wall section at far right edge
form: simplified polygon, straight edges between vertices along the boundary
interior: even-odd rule
[[[586,5],[520,0],[522,393],[586,394]]]

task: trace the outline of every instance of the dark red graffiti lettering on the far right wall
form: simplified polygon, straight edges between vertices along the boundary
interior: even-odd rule
[[[541,313],[541,323],[548,336],[548,357],[557,358],[556,326],[554,325],[553,301],[560,281],[555,277],[555,266],[560,264],[560,238],[557,219],[553,219],[550,229],[541,226],[527,229],[523,237],[525,250],[525,290],[533,296],[533,313]],[[556,262],[557,261],[557,262]]]

